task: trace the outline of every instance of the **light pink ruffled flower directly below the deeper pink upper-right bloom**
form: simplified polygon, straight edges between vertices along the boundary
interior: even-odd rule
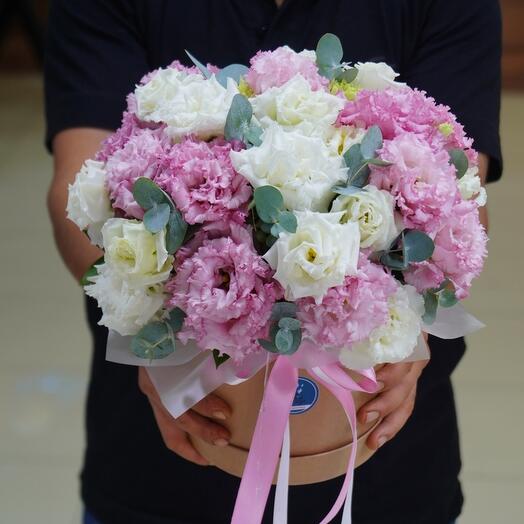
[[[438,231],[460,199],[448,153],[404,133],[386,140],[379,155],[392,165],[372,166],[370,183],[391,192],[406,227]]]

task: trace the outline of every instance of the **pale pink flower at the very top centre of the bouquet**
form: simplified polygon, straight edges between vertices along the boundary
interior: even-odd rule
[[[315,55],[307,51],[296,53],[288,46],[274,51],[259,51],[250,61],[246,82],[260,94],[270,87],[280,87],[295,75],[302,75],[317,90],[326,87],[327,78],[320,76]]]

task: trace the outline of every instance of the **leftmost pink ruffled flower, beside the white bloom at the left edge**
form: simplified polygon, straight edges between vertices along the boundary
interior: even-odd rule
[[[132,117],[128,118],[131,120]],[[141,219],[144,212],[133,198],[133,184],[139,177],[153,178],[171,143],[163,127],[133,126],[131,122],[129,129],[115,138],[115,144],[120,141],[123,146],[107,158],[107,188],[115,209],[121,210],[128,218]],[[126,137],[128,131],[131,134]]]

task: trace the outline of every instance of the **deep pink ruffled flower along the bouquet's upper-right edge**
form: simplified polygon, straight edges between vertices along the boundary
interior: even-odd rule
[[[452,148],[469,150],[473,144],[449,107],[437,104],[424,91],[410,87],[362,90],[355,100],[346,103],[337,123],[364,128],[378,125],[387,140],[406,132],[415,133],[435,151]],[[474,152],[467,154],[473,161]]]

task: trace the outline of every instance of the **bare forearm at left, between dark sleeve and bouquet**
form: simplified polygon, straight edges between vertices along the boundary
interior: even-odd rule
[[[100,142],[109,134],[101,129],[71,129],[59,133],[53,141],[54,177],[47,196],[55,242],[67,268],[80,280],[102,251],[67,219],[68,186],[82,163],[92,158]]]

